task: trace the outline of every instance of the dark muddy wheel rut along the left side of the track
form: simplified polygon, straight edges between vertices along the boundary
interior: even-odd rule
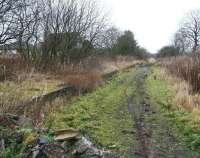
[[[142,69],[142,73],[138,73],[135,78],[138,93],[137,98],[139,98],[139,100],[138,102],[134,102],[132,97],[127,97],[128,110],[131,113],[134,121],[139,143],[136,151],[132,153],[134,155],[131,156],[137,158],[153,158],[155,157],[155,153],[153,152],[154,150],[151,146],[150,133],[145,127],[144,120],[144,113],[149,111],[149,106],[144,102],[143,99],[140,99],[144,97],[144,81],[148,75],[149,69],[147,67],[140,69]]]

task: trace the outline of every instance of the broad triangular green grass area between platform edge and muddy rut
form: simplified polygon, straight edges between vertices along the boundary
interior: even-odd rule
[[[134,74],[135,70],[119,73],[104,87],[74,99],[51,116],[46,126],[80,129],[94,143],[126,156],[136,141],[125,95],[134,93]]]

